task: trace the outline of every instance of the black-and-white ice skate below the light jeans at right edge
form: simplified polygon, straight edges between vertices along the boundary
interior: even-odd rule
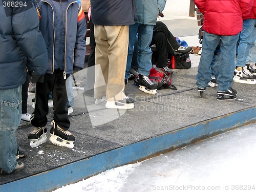
[[[253,75],[247,67],[237,67],[234,70],[234,82],[256,84],[256,76]]]

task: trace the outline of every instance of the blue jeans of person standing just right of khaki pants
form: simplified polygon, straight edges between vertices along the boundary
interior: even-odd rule
[[[134,42],[138,33],[138,70],[139,74],[148,76],[152,68],[150,43],[153,37],[153,25],[134,24],[129,26],[129,47],[125,79],[130,76],[129,70],[133,58]]]

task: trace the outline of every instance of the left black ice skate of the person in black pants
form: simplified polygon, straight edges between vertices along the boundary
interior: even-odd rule
[[[36,147],[42,143],[46,142],[46,126],[34,127],[34,129],[29,133],[28,140],[30,141],[31,147]]]

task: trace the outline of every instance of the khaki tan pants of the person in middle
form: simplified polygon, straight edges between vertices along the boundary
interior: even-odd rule
[[[94,97],[108,100],[125,98],[124,75],[126,69],[129,26],[94,26],[95,84]]]

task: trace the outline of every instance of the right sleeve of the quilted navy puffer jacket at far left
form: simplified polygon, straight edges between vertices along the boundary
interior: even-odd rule
[[[12,29],[22,51],[26,54],[29,70],[35,75],[44,75],[47,70],[48,55],[44,38],[39,31],[39,19],[31,1],[26,7],[15,7],[12,16]]]

